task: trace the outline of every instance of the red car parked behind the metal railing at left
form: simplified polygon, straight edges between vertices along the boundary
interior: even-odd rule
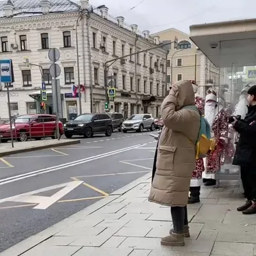
[[[60,134],[64,134],[63,124],[59,121]],[[22,115],[12,120],[13,138],[27,141],[29,138],[41,140],[45,137],[57,138],[56,116],[54,115]],[[0,140],[11,140],[10,124],[0,125]]]

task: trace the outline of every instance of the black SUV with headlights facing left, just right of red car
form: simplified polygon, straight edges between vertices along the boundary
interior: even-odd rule
[[[105,113],[83,114],[76,119],[63,125],[64,133],[67,138],[73,135],[81,135],[84,138],[91,138],[93,134],[105,133],[111,136],[113,132],[113,121]]]

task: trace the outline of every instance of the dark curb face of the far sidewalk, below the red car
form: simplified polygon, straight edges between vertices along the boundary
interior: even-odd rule
[[[81,143],[80,140],[67,140],[67,141],[57,142],[57,143],[51,144],[51,145],[38,145],[35,147],[31,147],[31,148],[17,148],[17,149],[6,151],[6,152],[1,152],[0,157],[10,156],[13,154],[19,154],[19,153],[24,153],[24,152],[36,151],[36,150],[40,150],[40,149],[44,149],[44,148],[68,146],[68,145],[74,145],[74,144],[80,144],[80,143]]]

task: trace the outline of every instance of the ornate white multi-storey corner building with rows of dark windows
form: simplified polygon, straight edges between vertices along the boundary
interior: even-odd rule
[[[0,2],[0,16],[0,59],[12,59],[15,77],[10,88],[12,115],[41,111],[40,70],[43,70],[47,88],[46,113],[52,113],[52,77],[49,74],[52,62],[48,58],[52,47],[60,50],[57,63],[61,68],[58,79],[62,113],[64,118],[70,119],[79,112],[79,99],[72,96],[72,85],[78,84],[78,68],[80,84],[85,84],[81,95],[82,113],[101,112],[106,102],[104,63],[159,44],[159,38],[150,38],[149,31],[139,33],[135,24],[128,27],[124,17],[113,19],[106,6],[92,11],[88,0],[80,4],[68,0],[42,0],[36,4],[8,0]],[[108,84],[116,87],[110,111],[123,111],[126,116],[132,113],[159,115],[166,92],[165,58],[166,51],[158,48],[138,54],[137,61],[135,56],[115,61],[108,68]],[[4,84],[0,88],[0,116],[8,118]]]

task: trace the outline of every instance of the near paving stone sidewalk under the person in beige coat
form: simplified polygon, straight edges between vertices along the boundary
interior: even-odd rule
[[[253,256],[256,216],[236,207],[244,199],[235,182],[202,188],[200,204],[188,205],[191,237],[184,247],[161,246],[170,209],[149,203],[150,174],[70,218],[1,253],[2,256]]]

